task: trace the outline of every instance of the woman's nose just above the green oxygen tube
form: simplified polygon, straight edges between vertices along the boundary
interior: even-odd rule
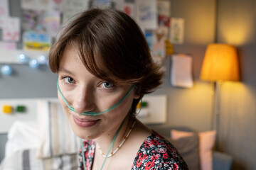
[[[73,99],[72,105],[76,112],[94,111],[95,103],[92,90],[87,87],[81,87],[74,92],[75,98]]]

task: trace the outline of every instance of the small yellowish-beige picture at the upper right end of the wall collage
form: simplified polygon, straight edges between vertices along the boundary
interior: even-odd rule
[[[173,44],[182,44],[184,39],[184,19],[171,18],[170,40]]]

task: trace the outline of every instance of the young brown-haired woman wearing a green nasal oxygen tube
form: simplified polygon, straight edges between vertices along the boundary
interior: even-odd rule
[[[163,72],[132,18],[113,9],[81,13],[51,48],[49,64],[82,139],[80,169],[188,169],[173,145],[135,117]]]

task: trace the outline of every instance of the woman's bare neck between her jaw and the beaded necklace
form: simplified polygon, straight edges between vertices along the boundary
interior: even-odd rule
[[[129,131],[129,128],[132,125],[132,123],[133,123],[132,118],[129,118],[129,117],[125,118],[122,128],[119,130],[119,133],[117,134],[117,138],[114,141],[112,151],[114,151],[114,149],[117,149],[117,146],[120,144],[120,142],[122,142],[124,135],[126,135],[126,133]],[[112,130],[110,130],[110,132],[105,132],[105,134],[95,139],[98,147],[102,149],[103,153],[107,154],[108,150],[110,149],[110,145],[112,143],[114,135],[117,132],[120,125],[121,123],[117,127],[114,127]]]

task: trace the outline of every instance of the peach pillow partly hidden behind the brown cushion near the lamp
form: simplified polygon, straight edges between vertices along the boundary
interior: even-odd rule
[[[171,139],[173,140],[178,140],[181,137],[189,137],[193,135],[193,132],[171,130]],[[215,135],[215,130],[198,132],[201,170],[213,170],[213,146],[215,144]]]

